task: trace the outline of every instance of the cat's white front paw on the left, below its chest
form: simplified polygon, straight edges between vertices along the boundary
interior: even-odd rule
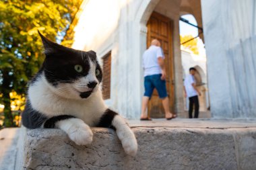
[[[86,124],[79,124],[72,127],[68,136],[77,145],[86,145],[92,142],[92,130]]]

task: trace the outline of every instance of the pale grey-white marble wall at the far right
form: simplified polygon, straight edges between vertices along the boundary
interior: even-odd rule
[[[256,118],[256,1],[201,0],[214,118]]]

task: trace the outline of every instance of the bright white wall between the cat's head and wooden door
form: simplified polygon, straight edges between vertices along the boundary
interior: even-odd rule
[[[126,118],[139,118],[141,107],[140,28],[139,21],[134,22],[139,5],[139,1],[89,0],[75,28],[73,44],[75,49],[96,51],[100,62],[111,50],[111,89],[106,104]]]

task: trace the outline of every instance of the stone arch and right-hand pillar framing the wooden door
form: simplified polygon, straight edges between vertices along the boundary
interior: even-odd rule
[[[152,12],[156,9],[157,5],[164,2],[165,0],[152,0],[152,1],[142,1],[140,4],[140,7],[138,9],[138,12],[135,16],[135,23],[139,28],[139,39],[137,42],[135,42],[135,46],[137,48],[137,54],[139,56],[142,56],[143,52],[146,50],[146,42],[147,42],[147,27],[146,24],[148,22],[148,19],[150,18],[150,15]],[[165,1],[166,2],[166,1]],[[179,0],[174,3],[174,5],[177,5],[176,9],[179,9],[180,3]],[[170,3],[170,2],[168,2]],[[172,20],[174,21],[174,42],[173,42],[173,63],[174,63],[174,97],[175,97],[175,103],[174,103],[174,112],[176,112],[180,117],[185,118],[185,112],[183,108],[183,71],[181,66],[181,49],[180,49],[180,40],[179,40],[179,13],[173,15]],[[141,63],[141,59],[139,61]],[[140,69],[141,73],[141,80],[143,80],[143,70]],[[143,82],[141,81],[140,85],[140,93],[141,97],[143,95],[144,89],[143,89]]]

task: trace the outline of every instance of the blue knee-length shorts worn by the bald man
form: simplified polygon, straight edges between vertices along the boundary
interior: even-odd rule
[[[160,75],[148,75],[144,77],[144,87],[145,93],[144,96],[150,97],[154,91],[154,88],[158,91],[160,99],[167,97],[166,91],[166,82],[161,79],[162,74]]]

